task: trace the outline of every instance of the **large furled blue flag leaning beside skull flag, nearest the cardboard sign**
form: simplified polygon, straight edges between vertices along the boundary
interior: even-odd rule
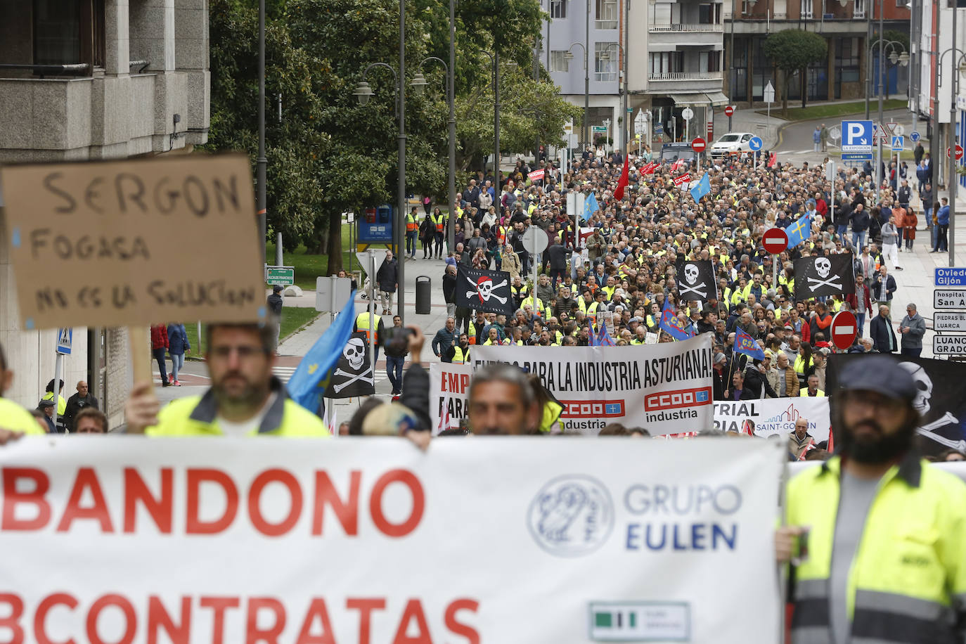
[[[289,379],[289,397],[312,413],[318,413],[322,407],[328,378],[342,357],[349,336],[353,334],[354,301],[355,291],[349,294],[349,301],[342,307],[335,322],[315,341],[312,349],[298,363],[296,373]]]

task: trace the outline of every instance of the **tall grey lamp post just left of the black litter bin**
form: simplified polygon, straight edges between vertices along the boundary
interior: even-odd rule
[[[399,133],[396,140],[399,143],[399,185],[397,186],[397,198],[399,210],[396,213],[396,220],[392,224],[393,243],[396,246],[398,256],[398,280],[399,293],[397,301],[397,314],[406,323],[406,275],[405,266],[405,241],[404,235],[406,228],[406,0],[399,0],[399,73],[385,63],[370,63],[362,72],[362,80],[353,92],[353,96],[358,100],[359,105],[365,105],[372,98],[373,91],[369,83],[365,82],[366,74],[374,67],[382,67],[392,72],[396,88],[396,118],[399,122]],[[370,280],[375,282],[376,276],[370,275]]]

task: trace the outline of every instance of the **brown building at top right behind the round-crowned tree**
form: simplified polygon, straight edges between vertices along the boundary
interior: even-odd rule
[[[725,4],[725,51],[728,73],[725,93],[739,105],[762,102],[769,82],[781,100],[781,73],[765,55],[764,42],[777,31],[797,29],[822,36],[828,54],[810,65],[805,76],[788,79],[789,100],[863,99],[878,94],[877,41],[879,12],[886,31],[909,34],[910,10],[905,0],[732,0]],[[872,34],[871,38],[869,35]],[[887,62],[887,94],[904,95],[908,70]]]

